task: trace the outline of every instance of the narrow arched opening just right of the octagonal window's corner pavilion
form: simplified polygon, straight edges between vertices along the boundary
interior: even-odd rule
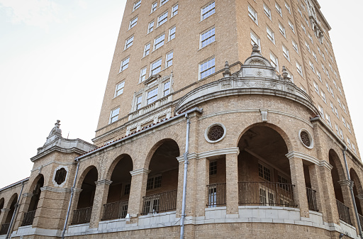
[[[82,181],[82,191],[79,194],[77,209],[73,212],[72,224],[89,223],[89,221],[91,221],[98,172],[94,166],[91,166],[86,170],[88,170],[88,172]]]

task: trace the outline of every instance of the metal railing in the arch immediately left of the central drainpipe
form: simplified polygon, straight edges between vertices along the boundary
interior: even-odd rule
[[[177,210],[177,190],[143,196],[141,215]]]

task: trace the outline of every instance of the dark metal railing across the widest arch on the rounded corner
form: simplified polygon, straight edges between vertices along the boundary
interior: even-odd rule
[[[238,204],[296,207],[293,184],[238,182]]]

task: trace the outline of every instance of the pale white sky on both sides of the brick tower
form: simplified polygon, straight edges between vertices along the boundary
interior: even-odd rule
[[[363,55],[363,1],[319,2],[333,28],[335,57],[363,149],[363,83],[356,74]],[[0,188],[30,175],[30,157],[57,119],[63,137],[94,138],[124,6],[125,0],[0,0]]]

